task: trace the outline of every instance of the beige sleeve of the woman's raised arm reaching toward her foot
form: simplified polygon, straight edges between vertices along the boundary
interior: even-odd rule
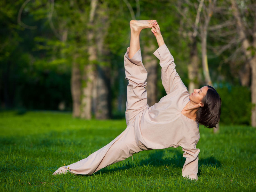
[[[160,46],[154,55],[160,60],[162,67],[162,84],[167,95],[176,89],[185,88],[185,85],[180,79],[179,74],[176,72],[173,56],[164,44]]]

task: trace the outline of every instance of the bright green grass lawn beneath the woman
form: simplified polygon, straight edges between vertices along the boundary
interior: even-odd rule
[[[198,181],[182,177],[182,148],[142,151],[95,175],[57,175],[126,128],[125,120],[70,113],[0,112],[0,191],[255,191],[256,129],[200,126]]]

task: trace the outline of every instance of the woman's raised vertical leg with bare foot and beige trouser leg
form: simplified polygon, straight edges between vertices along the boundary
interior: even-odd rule
[[[148,73],[142,63],[140,52],[140,32],[152,28],[156,20],[131,20],[130,47],[124,55],[125,79],[128,80],[127,101],[125,110],[126,124],[130,124],[135,116],[148,107],[147,85]]]

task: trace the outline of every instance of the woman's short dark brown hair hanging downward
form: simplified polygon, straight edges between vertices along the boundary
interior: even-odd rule
[[[216,124],[220,122],[221,98],[218,92],[207,85],[208,90],[202,99],[203,107],[196,112],[196,121],[207,128],[216,128]]]

